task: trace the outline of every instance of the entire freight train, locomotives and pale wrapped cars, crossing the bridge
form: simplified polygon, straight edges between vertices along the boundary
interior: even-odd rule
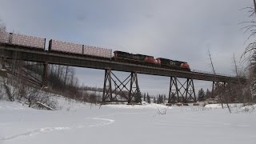
[[[11,34],[6,33],[5,31],[0,31],[0,42],[17,46],[25,46],[30,49],[45,50],[48,52],[79,54],[97,58],[108,58],[118,62],[130,62],[146,66],[158,66],[172,70],[190,71],[190,66],[187,62],[174,61],[166,58],[154,58],[153,56],[143,54],[130,54],[123,51],[114,51],[114,56],[112,57],[112,50],[110,49],[86,46],[71,42],[62,42],[54,39],[50,39],[48,50],[46,50],[46,38]]]

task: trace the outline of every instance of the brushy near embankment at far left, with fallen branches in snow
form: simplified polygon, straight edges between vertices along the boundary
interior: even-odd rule
[[[56,102],[50,94],[46,94],[40,90],[36,85],[35,80],[27,77],[28,70],[24,70],[26,62],[17,61],[15,59],[11,62],[3,62],[1,60],[1,69],[6,71],[7,77],[0,77],[0,99],[14,102],[22,102],[29,107],[43,108],[38,106],[38,102],[49,106],[52,109],[57,109],[58,102]],[[3,63],[5,63],[3,65]],[[30,71],[30,76],[32,76]]]

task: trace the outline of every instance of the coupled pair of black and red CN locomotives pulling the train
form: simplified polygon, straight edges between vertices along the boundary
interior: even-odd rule
[[[190,71],[187,62],[174,61],[167,58],[154,58],[153,56],[143,54],[130,54],[123,51],[114,51],[114,60],[122,62],[132,62],[147,66],[159,66],[167,69]]]

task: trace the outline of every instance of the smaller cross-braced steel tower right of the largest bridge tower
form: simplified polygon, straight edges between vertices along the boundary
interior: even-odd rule
[[[186,82],[182,83],[177,77],[170,77],[168,103],[193,101],[197,102],[195,98],[193,79],[186,78]]]

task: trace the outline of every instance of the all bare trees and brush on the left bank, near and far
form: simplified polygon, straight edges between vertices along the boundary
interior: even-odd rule
[[[2,59],[1,59],[2,61]],[[38,62],[23,62],[17,59],[5,63],[8,78],[1,78],[0,99],[6,95],[6,100],[15,99],[29,103],[29,106],[35,106],[36,102],[50,103],[53,105],[50,95],[42,98],[42,91],[51,94],[63,95],[66,98],[73,98],[81,102],[101,102],[102,88],[79,86],[78,78],[75,77],[75,70],[71,66],[48,65],[48,86],[41,87],[43,65]],[[2,65],[1,65],[2,67]],[[33,81],[32,81],[33,80]],[[97,93],[98,91],[98,93]],[[48,93],[48,94],[50,94]],[[49,101],[46,101],[46,100]],[[52,106],[56,107],[56,105]]]

